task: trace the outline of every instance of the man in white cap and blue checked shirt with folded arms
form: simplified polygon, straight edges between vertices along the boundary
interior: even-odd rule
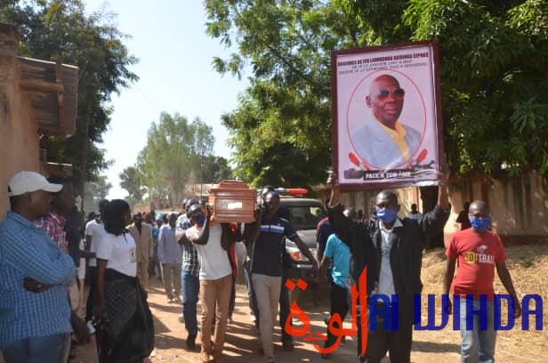
[[[70,340],[67,286],[76,267],[34,224],[49,213],[50,193],[61,188],[35,172],[16,173],[8,184],[11,212],[0,223],[0,351],[6,363],[60,361]]]

